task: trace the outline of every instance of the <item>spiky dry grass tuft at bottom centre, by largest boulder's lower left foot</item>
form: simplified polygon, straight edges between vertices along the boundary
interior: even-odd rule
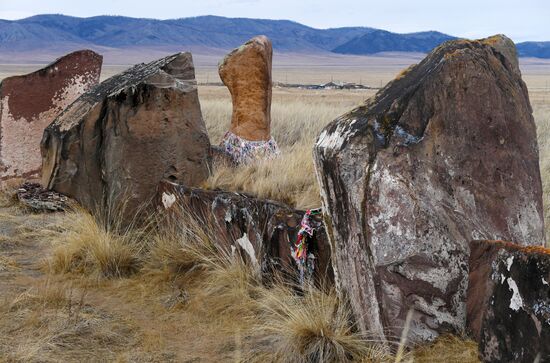
[[[393,361],[384,345],[354,329],[349,307],[333,290],[297,291],[283,284],[262,291],[254,334],[263,344],[252,350],[252,361]]]

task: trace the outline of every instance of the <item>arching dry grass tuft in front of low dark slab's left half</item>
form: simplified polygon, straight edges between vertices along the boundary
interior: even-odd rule
[[[192,289],[190,304],[203,316],[246,323],[261,286],[259,271],[220,241],[216,228],[185,214],[153,237],[145,270]]]

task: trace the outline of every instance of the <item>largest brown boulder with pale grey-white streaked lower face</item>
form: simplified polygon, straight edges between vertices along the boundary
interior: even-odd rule
[[[363,332],[399,337],[410,309],[413,342],[463,330],[469,241],[543,243],[514,54],[503,36],[444,43],[319,136],[336,284]]]

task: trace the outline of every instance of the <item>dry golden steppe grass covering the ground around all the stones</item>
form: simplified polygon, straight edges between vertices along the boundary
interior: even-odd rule
[[[302,68],[303,79],[300,68],[286,74],[305,83],[324,79],[326,69]],[[386,82],[399,71],[380,69],[368,77]],[[367,79],[364,69],[337,71],[347,81]],[[547,209],[549,74],[536,65],[524,71]],[[199,91],[215,144],[229,125],[230,97],[223,87]],[[373,92],[274,89],[272,127],[282,157],[236,171],[219,168],[207,186],[318,206],[313,141]],[[333,290],[311,287],[296,295],[282,282],[264,287],[256,271],[216,249],[216,236],[192,219],[160,233],[121,230],[79,209],[33,214],[13,200],[13,191],[0,193],[0,362],[477,362],[475,344],[461,337],[445,336],[402,356],[397,344],[382,349],[356,333]]]

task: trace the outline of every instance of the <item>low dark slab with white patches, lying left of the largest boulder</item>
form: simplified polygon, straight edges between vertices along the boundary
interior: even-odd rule
[[[304,211],[240,193],[188,188],[168,181],[160,183],[156,204],[161,211],[192,213],[215,229],[216,242],[241,250],[263,276],[274,270],[296,273],[291,244],[296,241]],[[315,255],[314,279],[330,284],[330,245],[322,219],[315,218],[312,227],[309,248]]]

